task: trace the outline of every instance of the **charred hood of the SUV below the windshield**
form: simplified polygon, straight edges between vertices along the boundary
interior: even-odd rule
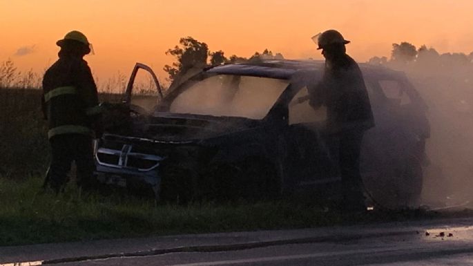
[[[244,117],[156,112],[137,122],[140,137],[163,142],[198,141],[258,126],[260,120]]]

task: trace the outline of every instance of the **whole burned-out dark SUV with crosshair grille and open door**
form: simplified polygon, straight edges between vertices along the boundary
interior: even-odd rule
[[[324,131],[325,109],[313,111],[307,100],[307,85],[318,82],[323,68],[313,60],[226,64],[175,81],[163,93],[151,68],[137,64],[125,117],[97,142],[97,177],[127,187],[145,184],[157,198],[182,201],[337,184],[336,142]],[[416,205],[427,107],[404,73],[360,68],[376,123],[363,140],[365,189],[383,205]],[[151,73],[152,93],[134,91],[139,69]]]

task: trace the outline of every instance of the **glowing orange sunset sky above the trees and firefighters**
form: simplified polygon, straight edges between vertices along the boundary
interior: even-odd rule
[[[164,80],[162,67],[173,60],[164,52],[185,36],[244,57],[269,48],[287,58],[321,58],[310,37],[329,28],[352,41],[348,53],[358,61],[389,56],[400,41],[473,51],[472,0],[0,0],[0,10],[0,61],[10,57],[21,70],[41,72],[57,59],[55,41],[81,30],[102,82],[118,72],[128,77],[135,61]]]

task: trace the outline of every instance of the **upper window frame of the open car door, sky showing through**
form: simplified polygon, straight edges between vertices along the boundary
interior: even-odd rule
[[[148,73],[146,81],[137,80],[139,69]],[[126,86],[124,104],[134,113],[152,113],[162,98],[162,88],[153,70],[145,64],[136,63]]]

